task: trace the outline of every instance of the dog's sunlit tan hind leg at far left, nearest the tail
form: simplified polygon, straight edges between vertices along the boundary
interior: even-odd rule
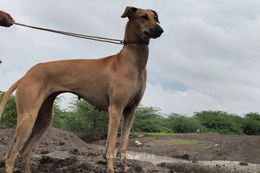
[[[4,156],[6,173],[13,172],[16,156],[32,130],[38,111],[42,105],[44,94],[41,94],[35,86],[36,84],[32,82],[31,84],[25,83],[24,85],[21,85],[21,87],[17,87],[15,95],[17,125],[11,147]]]

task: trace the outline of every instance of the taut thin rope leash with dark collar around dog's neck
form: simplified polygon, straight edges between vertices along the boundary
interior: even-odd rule
[[[86,35],[75,34],[75,33],[71,33],[71,32],[57,31],[57,30],[51,30],[51,29],[46,29],[46,28],[41,28],[41,27],[24,25],[24,24],[16,23],[16,22],[12,22],[12,23],[15,25],[26,26],[26,27],[30,27],[30,28],[34,28],[34,29],[55,32],[55,33],[73,36],[73,37],[86,38],[86,39],[90,39],[90,40],[104,41],[104,42],[109,42],[109,43],[114,43],[114,44],[121,44],[121,45],[128,44],[128,43],[138,43],[138,44],[147,44],[147,45],[149,44],[146,41],[127,41],[127,40],[117,40],[117,39],[104,38],[104,37],[86,36]]]

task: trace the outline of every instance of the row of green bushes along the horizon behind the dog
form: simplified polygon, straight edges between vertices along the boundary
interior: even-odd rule
[[[0,101],[5,92],[0,91]],[[85,141],[97,140],[107,137],[109,115],[108,112],[94,110],[84,100],[73,98],[72,106],[62,109],[60,104],[63,97],[54,101],[53,120],[51,125],[68,132],[72,132]],[[223,111],[203,110],[194,112],[192,117],[183,114],[160,113],[158,107],[145,107],[139,105],[131,132],[165,132],[165,133],[194,133],[197,129],[201,132],[215,132],[221,134],[260,135],[260,115],[250,112],[238,116]],[[17,111],[15,96],[11,95],[7,101],[0,122],[0,128],[16,126]],[[118,132],[121,132],[122,116]]]

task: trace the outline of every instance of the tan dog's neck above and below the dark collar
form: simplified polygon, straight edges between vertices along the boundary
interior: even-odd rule
[[[135,34],[135,28],[130,24],[130,21],[126,24],[124,40],[126,41],[146,41],[150,39],[142,40]],[[131,66],[135,66],[140,72],[143,72],[149,54],[149,47],[147,44],[140,43],[128,43],[123,46],[122,55],[124,61],[128,61]]]

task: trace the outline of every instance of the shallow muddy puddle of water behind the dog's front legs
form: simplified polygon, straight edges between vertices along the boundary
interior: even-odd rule
[[[95,145],[95,144],[89,144],[92,148],[97,149],[97,150],[104,150],[106,147]],[[115,149],[114,154],[117,153],[117,149]],[[129,154],[129,155],[128,155]],[[187,160],[182,160],[178,158],[173,158],[173,157],[166,157],[166,156],[158,156],[154,154],[147,154],[147,153],[139,153],[139,152],[134,152],[134,151],[126,151],[126,157],[135,159],[135,160],[140,160],[140,161],[147,161],[151,162],[153,164],[158,164],[161,162],[179,162],[179,161],[187,161]]]

